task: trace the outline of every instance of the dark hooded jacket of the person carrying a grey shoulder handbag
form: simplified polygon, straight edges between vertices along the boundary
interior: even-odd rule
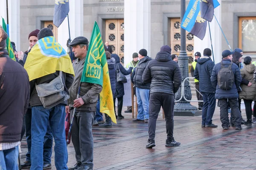
[[[125,76],[128,74],[131,74],[132,67],[129,68],[129,70],[125,70],[125,68],[122,66],[120,63],[120,58],[117,54],[111,54],[111,58],[114,58],[116,60],[115,68],[116,70],[120,69],[121,73],[124,74]],[[116,82],[116,94],[115,98],[122,97],[125,95],[125,90],[124,90],[124,84],[122,82],[117,82],[116,80],[116,72],[115,72],[115,82]]]

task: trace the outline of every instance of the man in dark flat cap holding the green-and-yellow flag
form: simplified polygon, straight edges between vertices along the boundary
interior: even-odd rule
[[[66,106],[66,113],[73,113],[73,109],[76,108],[71,137],[76,151],[77,163],[74,167],[68,168],[69,170],[93,169],[92,125],[96,113],[96,104],[99,98],[99,93],[102,91],[102,86],[88,82],[80,82],[81,74],[84,70],[88,44],[89,42],[85,37],[76,37],[70,43],[72,51],[78,59],[73,62],[75,78],[69,89],[69,106]],[[80,84],[81,90],[79,98],[76,98]]]

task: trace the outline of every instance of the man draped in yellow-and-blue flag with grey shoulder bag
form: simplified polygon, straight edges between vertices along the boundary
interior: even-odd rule
[[[55,141],[55,167],[57,170],[67,170],[65,105],[74,70],[69,55],[55,41],[52,30],[43,28],[38,33],[38,42],[30,51],[24,68],[29,74],[29,102],[32,107],[30,170],[43,169],[44,136],[48,121]]]

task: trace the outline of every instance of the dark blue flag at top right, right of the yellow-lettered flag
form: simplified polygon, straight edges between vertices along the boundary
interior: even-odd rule
[[[214,8],[219,6],[218,0],[203,0],[200,4],[201,17],[212,22]]]

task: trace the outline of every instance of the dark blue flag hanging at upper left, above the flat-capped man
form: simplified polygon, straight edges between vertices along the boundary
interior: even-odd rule
[[[59,27],[69,12],[69,0],[55,0],[53,24]]]

